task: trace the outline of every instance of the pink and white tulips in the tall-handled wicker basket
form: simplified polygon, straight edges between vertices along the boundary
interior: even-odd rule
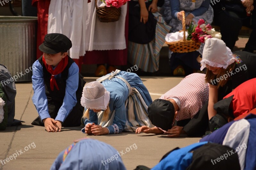
[[[204,43],[207,38],[212,38],[215,33],[214,28],[210,24],[205,24],[204,19],[199,19],[197,26],[190,24],[188,28],[188,40],[194,40],[196,43]]]

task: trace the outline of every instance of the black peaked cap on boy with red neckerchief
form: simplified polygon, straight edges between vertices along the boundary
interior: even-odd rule
[[[67,52],[72,47],[71,40],[63,34],[46,34],[44,42],[39,46],[39,50],[47,54]]]

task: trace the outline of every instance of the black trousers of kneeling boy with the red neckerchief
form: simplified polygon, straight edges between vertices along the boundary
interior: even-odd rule
[[[53,99],[47,97],[48,100],[48,111],[52,119],[55,119],[63,100]],[[68,114],[68,117],[62,122],[63,127],[75,127],[81,125],[81,118],[83,116],[84,107],[81,106],[80,100],[77,101],[76,105],[73,107],[72,111]],[[44,123],[38,116],[32,123],[35,126],[44,126]]]

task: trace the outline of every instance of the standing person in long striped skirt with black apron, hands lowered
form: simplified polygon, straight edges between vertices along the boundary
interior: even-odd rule
[[[172,28],[158,11],[163,4],[163,0],[129,2],[128,61],[145,72],[158,71],[160,50]]]

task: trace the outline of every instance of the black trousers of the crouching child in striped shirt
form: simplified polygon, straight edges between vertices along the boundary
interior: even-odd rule
[[[190,137],[202,137],[209,130],[208,101],[193,119],[180,120],[177,122],[177,126],[183,126],[183,130]]]

